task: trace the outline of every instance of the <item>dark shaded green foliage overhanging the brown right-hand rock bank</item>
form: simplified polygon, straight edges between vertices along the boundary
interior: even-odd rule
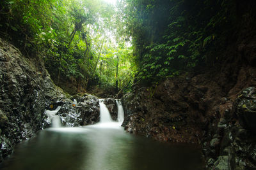
[[[159,81],[196,66],[213,66],[225,48],[234,1],[126,0],[138,81]]]

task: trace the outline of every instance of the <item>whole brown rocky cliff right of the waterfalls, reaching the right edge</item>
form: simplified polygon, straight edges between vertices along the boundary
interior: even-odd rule
[[[256,169],[255,44],[255,36],[241,34],[216,67],[135,85],[122,98],[126,131],[200,143],[211,169]]]

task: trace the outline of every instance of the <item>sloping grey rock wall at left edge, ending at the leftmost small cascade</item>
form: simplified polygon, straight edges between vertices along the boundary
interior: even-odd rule
[[[0,39],[0,159],[13,146],[47,127],[45,104],[65,97],[54,88],[40,62],[22,57],[17,48]]]

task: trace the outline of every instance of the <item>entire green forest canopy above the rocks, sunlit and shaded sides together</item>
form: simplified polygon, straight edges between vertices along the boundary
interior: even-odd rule
[[[80,92],[90,87],[127,92],[134,81],[152,85],[214,66],[237,27],[237,6],[231,0],[109,2],[4,0],[0,35],[25,55],[44,59],[63,89],[74,85]]]

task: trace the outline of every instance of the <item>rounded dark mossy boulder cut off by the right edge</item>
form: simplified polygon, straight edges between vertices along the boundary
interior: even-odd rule
[[[246,129],[256,132],[256,88],[244,89],[237,98],[236,106],[239,123]]]

